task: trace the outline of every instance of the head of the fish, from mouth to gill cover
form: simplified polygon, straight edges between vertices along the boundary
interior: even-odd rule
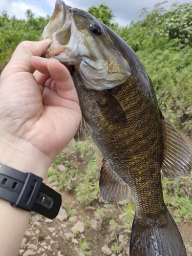
[[[131,70],[108,30],[90,13],[57,0],[41,35],[52,40],[42,56],[74,65],[87,89],[112,89],[123,84]]]

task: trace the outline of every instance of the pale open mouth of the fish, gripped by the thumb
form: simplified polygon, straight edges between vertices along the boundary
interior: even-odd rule
[[[77,46],[81,33],[74,22],[73,9],[75,8],[57,0],[51,19],[40,37],[40,40],[52,40],[42,57],[56,58],[69,65],[80,62],[77,58]]]

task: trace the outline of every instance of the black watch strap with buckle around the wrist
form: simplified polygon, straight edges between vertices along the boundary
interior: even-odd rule
[[[12,206],[33,210],[49,219],[54,219],[60,209],[61,195],[46,184],[42,178],[22,173],[0,163],[0,198]]]

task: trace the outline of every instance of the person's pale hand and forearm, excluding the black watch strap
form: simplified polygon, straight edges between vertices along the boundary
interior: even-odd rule
[[[0,76],[0,162],[42,178],[81,120],[69,70],[40,57],[49,42],[22,42]],[[0,199],[1,256],[17,255],[29,220]]]

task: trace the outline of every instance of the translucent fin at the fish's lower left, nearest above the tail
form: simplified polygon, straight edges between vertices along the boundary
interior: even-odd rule
[[[117,203],[130,196],[130,188],[115,172],[113,172],[103,158],[99,181],[101,196],[108,203]]]

